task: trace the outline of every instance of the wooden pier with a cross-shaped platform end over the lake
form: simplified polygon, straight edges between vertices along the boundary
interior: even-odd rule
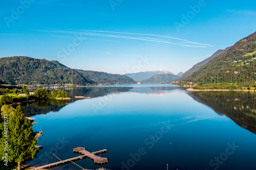
[[[52,167],[60,166],[60,165],[67,164],[67,163],[72,163],[74,161],[78,161],[78,160],[86,159],[86,158],[93,160],[94,164],[96,164],[96,165],[104,165],[104,164],[108,163],[107,158],[102,158],[102,157],[97,156],[99,154],[106,153],[107,152],[106,150],[100,150],[100,151],[91,153],[91,152],[86,151],[85,148],[79,147],[79,148],[74,148],[73,152],[79,153],[81,155],[74,157],[74,158],[58,161],[55,163],[50,163],[48,165],[39,166],[39,167],[33,168],[33,170],[42,169],[42,168],[52,168]]]

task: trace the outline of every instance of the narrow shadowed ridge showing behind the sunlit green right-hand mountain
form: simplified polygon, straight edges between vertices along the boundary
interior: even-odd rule
[[[190,76],[191,74],[193,74],[196,70],[198,70],[202,65],[204,65],[205,63],[207,63],[208,61],[210,61],[211,59],[219,56],[222,53],[225,53],[226,51],[228,51],[228,49],[230,48],[227,47],[223,50],[218,50],[217,52],[215,52],[212,56],[208,57],[207,59],[195,64],[192,68],[190,68],[189,70],[187,70],[178,80],[183,80],[185,78],[187,78],[188,76]]]

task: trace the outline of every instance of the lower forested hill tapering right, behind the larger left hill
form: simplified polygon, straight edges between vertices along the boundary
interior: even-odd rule
[[[125,75],[109,74],[106,72],[75,69],[84,78],[89,78],[97,84],[133,84],[132,78]]]

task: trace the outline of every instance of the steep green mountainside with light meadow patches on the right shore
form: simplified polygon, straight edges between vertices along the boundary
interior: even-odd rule
[[[256,32],[235,43],[225,53],[211,59],[185,82],[240,83],[256,81]]]

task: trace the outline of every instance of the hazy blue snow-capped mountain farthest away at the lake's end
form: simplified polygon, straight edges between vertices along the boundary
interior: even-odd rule
[[[129,74],[125,74],[125,76],[129,76],[133,80],[135,80],[137,82],[141,82],[143,80],[151,78],[152,76],[163,75],[163,74],[174,75],[170,71],[158,69],[158,70],[150,70],[150,71],[141,71],[141,72],[137,72],[137,73],[129,73]]]

